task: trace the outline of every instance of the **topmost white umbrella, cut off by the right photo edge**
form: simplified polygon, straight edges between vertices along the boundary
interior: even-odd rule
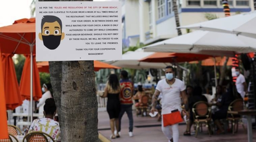
[[[180,26],[178,28],[233,33],[236,35],[256,38],[255,23],[256,11],[253,11],[247,14],[218,18],[188,26]]]

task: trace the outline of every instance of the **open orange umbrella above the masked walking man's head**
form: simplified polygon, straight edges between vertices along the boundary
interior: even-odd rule
[[[155,63],[172,63],[172,62],[188,62],[198,61],[209,58],[209,55],[193,54],[193,53],[162,53],[156,52],[153,55],[149,55],[141,59],[143,62],[155,62]]]

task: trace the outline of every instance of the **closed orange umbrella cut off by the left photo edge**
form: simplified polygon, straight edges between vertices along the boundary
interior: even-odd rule
[[[2,62],[0,62],[0,84],[4,84]],[[0,139],[8,139],[6,99],[4,85],[0,85]]]

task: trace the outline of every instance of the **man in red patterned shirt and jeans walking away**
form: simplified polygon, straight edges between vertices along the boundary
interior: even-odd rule
[[[121,120],[124,113],[127,113],[129,119],[129,136],[133,136],[133,116],[132,116],[132,105],[133,105],[133,84],[128,79],[128,72],[122,70],[120,73],[120,85],[121,85],[121,93],[120,93],[120,102],[121,102],[121,112],[119,115],[119,130],[116,133],[121,133]]]

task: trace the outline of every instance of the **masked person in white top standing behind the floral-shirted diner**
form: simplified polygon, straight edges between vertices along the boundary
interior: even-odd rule
[[[39,99],[39,102],[36,105],[36,107],[37,107],[36,110],[39,110],[39,114],[42,114],[44,112],[44,104],[45,104],[46,99],[52,98],[52,94],[49,91],[49,89],[51,87],[52,87],[51,84],[43,84],[42,91],[44,94],[43,94],[42,98]],[[38,117],[38,118],[42,118],[42,117]]]

